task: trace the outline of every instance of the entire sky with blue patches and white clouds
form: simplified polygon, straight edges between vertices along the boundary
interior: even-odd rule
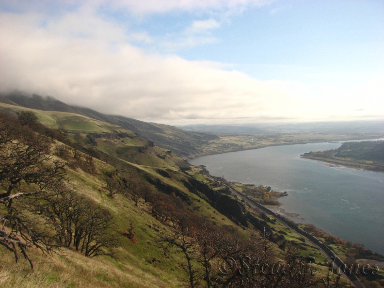
[[[0,92],[171,125],[384,119],[383,0],[0,0]]]

